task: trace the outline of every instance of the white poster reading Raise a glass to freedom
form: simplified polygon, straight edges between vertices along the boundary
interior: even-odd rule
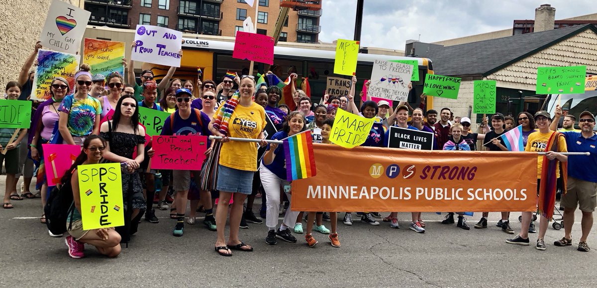
[[[412,65],[375,60],[367,95],[393,101],[408,101],[408,83],[412,76]]]

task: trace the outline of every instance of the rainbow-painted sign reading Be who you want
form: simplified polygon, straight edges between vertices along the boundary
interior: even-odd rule
[[[91,74],[110,75],[118,72],[124,75],[124,42],[85,38],[83,63],[91,66]]]

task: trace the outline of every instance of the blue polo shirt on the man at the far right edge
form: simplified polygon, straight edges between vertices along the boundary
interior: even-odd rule
[[[581,132],[562,132],[568,152],[590,152],[590,156],[569,155],[568,176],[584,181],[597,182],[597,134],[584,138]]]

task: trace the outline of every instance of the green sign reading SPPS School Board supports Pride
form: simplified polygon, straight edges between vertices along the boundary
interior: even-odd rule
[[[584,94],[587,66],[537,67],[537,94]]]

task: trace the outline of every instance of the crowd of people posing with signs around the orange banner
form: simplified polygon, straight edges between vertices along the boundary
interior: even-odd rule
[[[134,45],[134,44],[133,44]],[[31,94],[33,72],[31,67],[41,46],[35,49],[21,70],[18,80],[6,85],[6,98],[27,100]],[[582,236],[578,250],[589,251],[586,243],[592,227],[592,212],[597,206],[597,135],[593,132],[595,117],[590,112],[578,115],[580,131],[574,129],[576,117],[567,114],[563,128],[556,131],[562,117],[562,110],[557,107],[554,118],[546,111],[535,114],[521,112],[518,116],[504,116],[495,113],[485,117],[478,132],[472,131],[469,117],[454,117],[449,108],[436,110],[425,109],[426,95],[421,95],[420,107],[413,109],[408,103],[398,103],[395,109],[391,101],[366,101],[357,106],[354,87],[356,77],[352,79],[349,95],[337,97],[324,95],[319,104],[312,103],[301,89],[293,89],[294,107],[290,111],[287,105],[279,104],[282,89],[278,86],[257,86],[251,75],[230,75],[216,84],[214,80],[190,80],[173,78],[176,67],[170,67],[167,75],[156,83],[152,70],[144,70],[137,83],[133,72],[133,61],[124,60],[128,66],[127,81],[124,75],[112,73],[106,77],[92,75],[87,64],[81,64],[75,73],[75,90],[70,91],[66,79],[54,78],[50,86],[51,98],[39,105],[34,105],[30,129],[21,129],[16,139],[8,144],[16,131],[14,128],[0,129],[0,144],[7,153],[0,156],[7,172],[4,209],[13,208],[11,200],[23,197],[36,197],[29,190],[33,175],[36,176],[36,190],[46,205],[48,194],[57,191],[45,176],[44,151],[42,145],[71,144],[80,145],[81,154],[72,167],[61,179],[63,185],[72,186],[74,201],[67,220],[68,236],[65,242],[69,255],[73,258],[84,256],[84,245],[91,244],[100,253],[118,256],[120,243],[128,243],[130,236],[137,232],[139,223],[144,218],[147,222],[158,223],[155,208],[170,209],[170,218],[176,220],[173,236],[184,234],[185,224],[196,223],[196,213],[205,213],[202,224],[208,230],[217,231],[214,249],[219,255],[232,256],[232,250],[251,252],[253,247],[239,239],[239,228],[248,228],[248,224],[262,224],[265,220],[267,244],[275,245],[277,239],[296,243],[293,234],[305,234],[309,247],[318,244],[313,236],[315,230],[327,234],[333,247],[340,247],[338,237],[337,212],[303,212],[289,209],[291,201],[290,185],[285,168],[284,148],[278,144],[268,144],[264,128],[269,119],[277,133],[272,140],[282,140],[309,129],[314,143],[333,145],[330,134],[334,125],[337,109],[374,119],[374,124],[362,146],[387,147],[388,129],[396,126],[405,129],[426,131],[435,137],[435,150],[459,151],[507,151],[501,139],[509,129],[522,125],[522,137],[525,151],[546,152],[546,158],[538,156],[538,190],[541,183],[541,168],[547,159],[557,160],[567,165],[568,182],[564,181],[561,203],[564,206],[565,235],[554,243],[555,246],[570,246],[571,228],[574,224],[574,211],[580,208]],[[276,66],[276,68],[279,66]],[[273,69],[272,69],[273,70]],[[291,73],[294,85],[297,75]],[[365,84],[368,87],[368,83]],[[198,89],[198,91],[193,91]],[[236,88],[238,87],[238,89]],[[412,86],[409,84],[409,88]],[[197,97],[195,97],[195,95]],[[216,162],[211,170],[217,171],[213,189],[202,188],[201,171],[173,170],[154,171],[150,169],[150,159],[154,154],[151,143],[146,143],[145,129],[140,125],[139,107],[171,113],[163,125],[161,135],[215,135],[220,140],[210,141],[206,151],[208,159]],[[101,123],[101,119],[113,112],[111,120]],[[100,125],[101,123],[101,125]],[[260,140],[259,145],[251,142],[230,141],[230,138],[251,138]],[[553,140],[553,141],[552,141]],[[478,144],[482,141],[482,145]],[[547,147],[547,144],[552,144]],[[590,156],[566,156],[566,151],[590,152]],[[216,156],[217,155],[217,156]],[[213,156],[213,157],[211,157]],[[125,210],[125,225],[116,228],[83,230],[81,224],[81,201],[77,168],[79,165],[107,162],[122,163],[122,197]],[[320,159],[318,159],[320,160]],[[321,159],[320,161],[322,161]],[[210,162],[206,159],[202,170]],[[16,184],[23,173],[24,185],[21,195]],[[559,168],[556,173],[560,175]],[[563,176],[563,175],[562,175]],[[561,177],[564,178],[564,177]],[[159,191],[159,193],[156,193]],[[172,193],[170,193],[172,191]],[[256,199],[261,199],[259,216],[253,212]],[[190,210],[187,211],[187,201]],[[230,209],[228,209],[230,208]],[[188,212],[188,215],[187,215]],[[353,213],[360,216],[360,221],[370,225],[380,225],[378,219],[388,222],[391,228],[399,228],[397,212],[384,217],[373,211],[346,212],[341,222],[353,224]],[[282,222],[279,215],[284,215]],[[457,220],[454,215],[457,215]],[[465,218],[466,212],[449,212],[442,224],[454,224],[463,230],[470,230]],[[528,233],[536,233],[531,212],[523,212],[520,233],[507,243],[530,243]],[[306,227],[303,228],[303,216]],[[509,212],[501,212],[497,226],[505,233],[514,234],[510,227]],[[482,213],[474,228],[487,228],[488,213]],[[185,221],[186,218],[186,221]],[[229,235],[226,237],[226,224],[229,218]],[[46,221],[45,215],[40,221]],[[331,224],[325,227],[324,221]],[[546,249],[544,235],[549,219],[541,217],[536,248]],[[416,233],[424,233],[426,224],[421,212],[412,212],[408,228]],[[60,237],[52,234],[50,236]]]

